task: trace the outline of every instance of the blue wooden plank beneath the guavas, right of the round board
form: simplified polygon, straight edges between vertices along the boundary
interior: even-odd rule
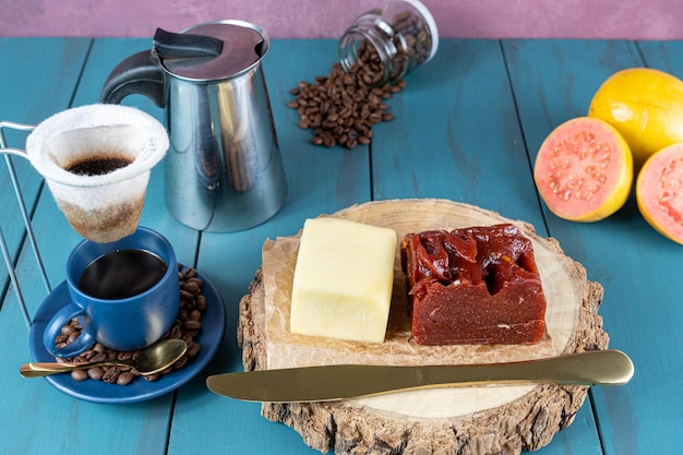
[[[654,62],[658,46],[643,47],[652,50],[647,55]],[[609,75],[643,65],[635,45],[625,41],[522,40],[506,41],[504,49],[531,159],[554,127],[586,113]],[[666,58],[675,61],[678,51],[671,47]],[[681,75],[680,68],[674,71]],[[604,452],[675,452],[683,417],[678,380],[683,283],[671,272],[683,266],[680,247],[643,220],[633,197],[596,224],[564,221],[548,212],[546,217],[549,232],[604,286],[600,313],[611,346],[625,350],[636,367],[628,385],[591,392]]]

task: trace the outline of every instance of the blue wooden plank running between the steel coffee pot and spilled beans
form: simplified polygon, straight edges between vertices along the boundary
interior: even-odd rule
[[[291,63],[292,59],[296,64]],[[264,59],[263,69],[288,179],[288,199],[285,207],[261,226],[241,232],[202,235],[197,268],[218,287],[228,314],[225,342],[204,371],[204,378],[242,370],[236,340],[238,303],[261,264],[261,247],[265,239],[293,235],[307,217],[370,200],[368,148],[347,151],[313,146],[310,144],[311,132],[300,130],[296,111],[286,107],[293,98],[290,88],[299,81],[312,82],[315,75],[326,75],[335,59],[336,40],[275,40]],[[262,418],[259,405],[212,394],[204,385],[204,378],[197,378],[193,386],[184,387],[178,394],[170,455],[317,453],[305,446],[291,429]],[[211,434],[211,438],[203,438],[197,444],[196,429],[202,429],[202,433]]]

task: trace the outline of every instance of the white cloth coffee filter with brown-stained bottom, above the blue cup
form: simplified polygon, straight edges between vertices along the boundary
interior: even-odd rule
[[[43,121],[28,135],[26,154],[74,230],[93,241],[111,242],[137,227],[149,170],[168,146],[166,129],[152,116],[132,107],[97,104]],[[88,158],[131,163],[95,176],[67,170]]]

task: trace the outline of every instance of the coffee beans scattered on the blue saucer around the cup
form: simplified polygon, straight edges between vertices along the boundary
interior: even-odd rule
[[[177,360],[176,363],[160,373],[143,376],[146,381],[155,381],[161,375],[183,368],[190,359],[196,357],[200,352],[200,344],[196,342],[196,337],[202,330],[202,314],[206,309],[206,298],[202,295],[202,286],[204,283],[196,276],[196,272],[193,268],[179,270],[178,278],[180,279],[180,310],[178,311],[173,326],[163,338],[184,339],[188,343],[188,351]],[[76,318],[72,319],[62,327],[61,335],[56,339],[56,345],[58,347],[68,345],[79,336],[81,330],[79,320]],[[76,357],[65,359],[58,358],[57,361],[94,362],[113,359],[125,360],[135,358],[137,354],[139,351],[117,351],[97,343],[91,349]],[[85,381],[89,378],[109,384],[128,385],[136,378],[140,378],[140,373],[127,367],[97,367],[88,370],[73,371],[71,372],[71,378],[75,381]]]

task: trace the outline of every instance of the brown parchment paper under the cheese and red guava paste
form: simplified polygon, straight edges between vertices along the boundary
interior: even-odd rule
[[[397,236],[402,236],[397,232]],[[398,239],[398,244],[400,238]],[[298,237],[267,240],[263,247],[267,368],[367,363],[491,363],[552,357],[548,333],[535,345],[421,346],[411,340],[405,275],[397,251],[394,290],[384,343],[357,343],[295,335],[289,332],[291,284],[299,250]]]

